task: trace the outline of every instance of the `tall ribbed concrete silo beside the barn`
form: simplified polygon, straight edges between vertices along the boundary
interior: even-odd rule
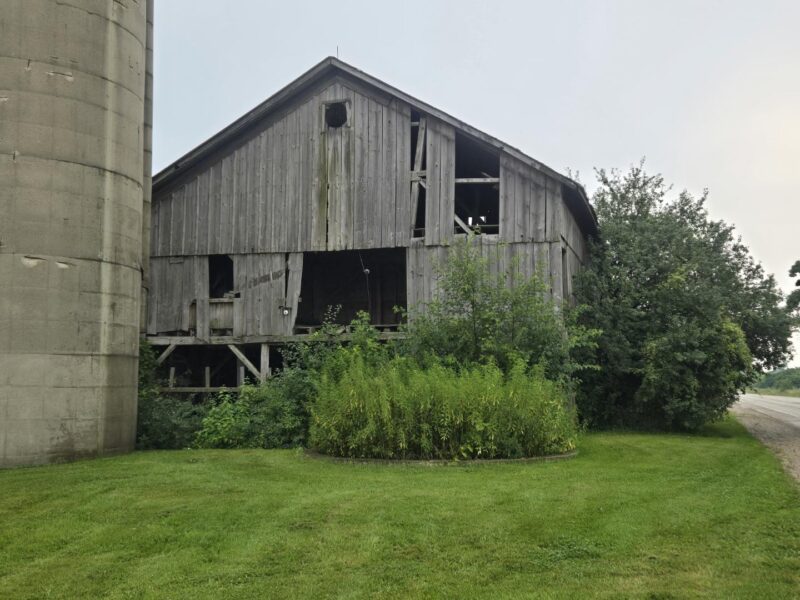
[[[133,447],[146,11],[0,5],[0,466]]]

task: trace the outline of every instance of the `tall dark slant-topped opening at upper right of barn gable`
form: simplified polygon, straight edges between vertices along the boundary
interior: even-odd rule
[[[455,233],[500,231],[500,157],[456,131]]]

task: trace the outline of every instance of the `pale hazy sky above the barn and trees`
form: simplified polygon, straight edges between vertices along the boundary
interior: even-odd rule
[[[800,2],[158,0],[154,169],[336,56],[554,169],[645,158],[784,289],[800,259]],[[800,339],[795,344],[800,352]],[[794,365],[800,366],[800,357]]]

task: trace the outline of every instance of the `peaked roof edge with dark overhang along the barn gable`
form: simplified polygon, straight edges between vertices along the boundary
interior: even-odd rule
[[[293,98],[303,93],[308,88],[317,85],[321,81],[342,75],[364,83],[368,87],[374,88],[380,92],[383,92],[384,94],[393,96],[407,103],[413,109],[431,115],[453,126],[462,133],[469,135],[495,148],[498,151],[505,152],[509,156],[516,158],[529,167],[559,181],[565,187],[565,201],[578,220],[581,229],[583,229],[584,233],[588,235],[596,234],[597,219],[594,214],[594,209],[592,208],[586,196],[586,191],[581,184],[528,156],[517,148],[508,145],[502,140],[484,133],[483,131],[480,131],[479,129],[476,129],[471,125],[461,121],[460,119],[457,119],[438,108],[418,100],[406,94],[405,92],[381,81],[380,79],[373,77],[372,75],[369,75],[368,73],[365,73],[364,71],[361,71],[360,69],[357,69],[333,56],[325,58],[314,67],[300,75],[300,77],[289,83],[287,86],[267,98],[264,102],[239,117],[228,127],[224,128],[219,133],[215,134],[193,150],[190,150],[184,154],[172,164],[162,169],[153,177],[153,191],[155,192],[160,188],[169,185],[174,179],[182,176],[186,171],[203,161],[215,151],[233,142],[239,135],[251,129],[254,125],[259,123],[262,119],[267,118],[280,107],[285,106],[288,102],[291,102]]]

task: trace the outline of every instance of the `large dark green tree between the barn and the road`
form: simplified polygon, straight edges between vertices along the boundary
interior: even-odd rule
[[[598,171],[600,238],[579,277],[602,329],[583,416],[600,426],[694,429],[720,417],[757,372],[785,364],[792,319],[771,275],[706,193],[670,199],[642,165]]]

